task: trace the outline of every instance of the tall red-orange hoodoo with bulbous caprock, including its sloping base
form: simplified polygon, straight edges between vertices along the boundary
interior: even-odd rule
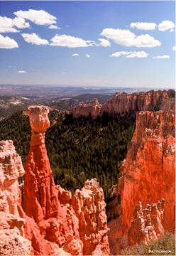
[[[30,116],[32,138],[24,167],[26,170],[24,176],[25,213],[35,220],[44,240],[64,247],[68,254],[82,255],[78,219],[72,206],[60,206],[45,149],[45,130],[50,125],[49,108],[31,106],[26,112]],[[28,233],[27,228],[26,233]],[[38,250],[40,252],[40,248]],[[40,253],[43,254],[43,251]],[[48,253],[52,255],[53,252]]]

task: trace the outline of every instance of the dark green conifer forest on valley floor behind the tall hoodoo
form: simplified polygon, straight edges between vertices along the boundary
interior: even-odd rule
[[[45,145],[55,184],[74,192],[81,189],[87,179],[97,178],[108,201],[109,189],[118,182],[136,116],[131,112],[115,118],[104,114],[95,120],[90,117],[72,119],[67,112],[53,110],[49,118]],[[13,140],[24,164],[30,147],[31,127],[23,112],[1,120],[0,141],[6,139]]]

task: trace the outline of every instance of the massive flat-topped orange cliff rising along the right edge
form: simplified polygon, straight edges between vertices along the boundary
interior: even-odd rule
[[[139,201],[146,205],[165,198],[163,228],[169,230],[175,224],[175,111],[137,112],[136,117],[136,131],[117,185],[120,217],[109,223],[113,254],[128,243],[133,209]]]

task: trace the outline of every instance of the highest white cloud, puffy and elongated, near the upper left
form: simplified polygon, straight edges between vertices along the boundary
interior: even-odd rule
[[[45,26],[56,23],[55,20],[57,19],[55,16],[48,14],[48,12],[43,10],[37,11],[29,9],[28,11],[16,11],[13,14],[18,18],[26,18],[37,25]]]

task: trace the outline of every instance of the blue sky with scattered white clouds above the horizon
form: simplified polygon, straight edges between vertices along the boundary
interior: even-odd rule
[[[175,1],[0,5],[0,84],[175,87]]]

